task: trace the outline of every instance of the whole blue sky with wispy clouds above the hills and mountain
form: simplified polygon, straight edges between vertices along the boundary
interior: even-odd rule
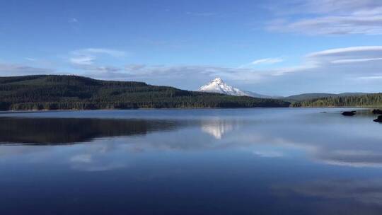
[[[0,76],[382,91],[382,1],[1,1]]]

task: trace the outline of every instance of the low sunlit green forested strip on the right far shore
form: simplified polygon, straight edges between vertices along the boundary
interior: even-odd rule
[[[292,107],[382,107],[382,93],[316,98],[292,103]]]

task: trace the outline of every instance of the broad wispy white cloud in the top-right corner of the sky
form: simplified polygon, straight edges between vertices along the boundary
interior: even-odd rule
[[[382,34],[382,1],[305,0],[289,8],[267,28],[310,35]]]

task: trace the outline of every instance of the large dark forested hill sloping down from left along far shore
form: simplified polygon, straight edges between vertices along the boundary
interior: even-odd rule
[[[290,103],[82,76],[0,77],[0,110],[287,107]]]

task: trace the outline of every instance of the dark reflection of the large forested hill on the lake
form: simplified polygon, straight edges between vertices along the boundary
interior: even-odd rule
[[[74,144],[98,137],[168,131],[180,126],[170,120],[0,117],[0,143]]]

